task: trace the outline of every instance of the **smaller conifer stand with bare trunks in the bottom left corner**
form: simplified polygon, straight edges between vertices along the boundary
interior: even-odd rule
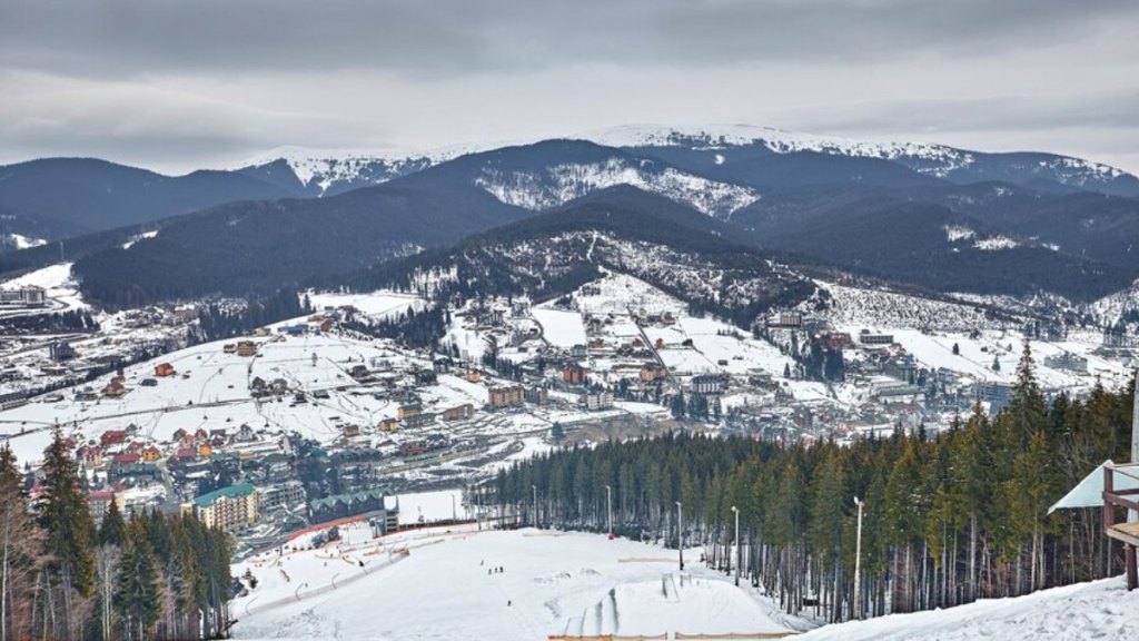
[[[227,535],[192,516],[123,518],[99,527],[79,465],[56,433],[44,493],[31,501],[0,448],[0,640],[218,639],[231,597]]]

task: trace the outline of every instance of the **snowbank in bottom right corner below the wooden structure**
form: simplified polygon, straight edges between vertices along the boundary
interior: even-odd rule
[[[928,612],[820,627],[801,641],[1130,641],[1139,639],[1139,593],[1120,577]]]

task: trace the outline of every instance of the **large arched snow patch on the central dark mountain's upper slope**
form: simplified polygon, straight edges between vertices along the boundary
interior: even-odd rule
[[[484,169],[475,185],[505,203],[534,211],[616,185],[630,185],[721,218],[729,218],[760,200],[760,194],[747,187],[618,157],[599,163],[559,164],[535,172]]]

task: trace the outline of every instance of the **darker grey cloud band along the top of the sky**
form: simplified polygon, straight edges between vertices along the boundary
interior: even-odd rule
[[[1130,0],[5,0],[0,65],[56,73],[693,65],[986,56],[1133,19]]]

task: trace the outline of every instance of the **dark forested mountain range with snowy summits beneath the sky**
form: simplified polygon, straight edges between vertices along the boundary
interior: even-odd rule
[[[623,212],[605,245],[617,246],[639,226],[674,225],[681,208],[693,234],[731,238],[749,260],[939,292],[1090,300],[1139,277],[1139,179],[1084,160],[749,127],[582,138],[473,153],[293,148],[182,177],[99,160],[7,165],[0,232],[27,249],[8,246],[0,273],[63,251],[109,305],[240,295],[538,221],[548,237],[584,233],[597,208]],[[40,241],[54,242],[30,246]]]

